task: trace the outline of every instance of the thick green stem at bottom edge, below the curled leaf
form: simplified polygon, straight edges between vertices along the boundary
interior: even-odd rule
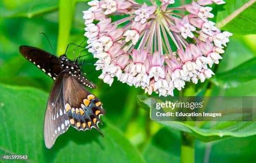
[[[194,163],[195,162],[195,139],[189,138],[185,132],[181,132],[182,145],[181,145],[181,163]]]

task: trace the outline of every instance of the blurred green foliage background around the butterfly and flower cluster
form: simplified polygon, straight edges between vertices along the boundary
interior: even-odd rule
[[[225,1],[225,5],[212,5],[214,21],[234,35],[223,60],[214,67],[216,76],[196,86],[187,84],[182,94],[256,95],[255,3]],[[176,4],[189,2],[177,0]],[[153,122],[145,104],[150,97],[143,90],[116,80],[109,87],[97,78],[100,71],[88,78],[97,85],[91,91],[106,110],[100,127],[105,137],[96,130],[78,132],[71,127],[51,150],[46,149],[43,122],[53,81],[26,61],[18,47],[52,52],[39,34],[44,32],[61,55],[68,43],[84,40],[82,10],[87,9],[83,0],[0,0],[0,155],[28,154],[30,162],[256,162],[255,122]],[[230,15],[233,19],[227,22]],[[73,49],[70,46],[67,52],[70,59]],[[88,55],[85,61],[89,64],[83,70],[92,71],[95,59]]]

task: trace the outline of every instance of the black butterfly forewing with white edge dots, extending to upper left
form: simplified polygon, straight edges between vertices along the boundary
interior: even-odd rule
[[[54,80],[61,72],[60,60],[51,53],[31,46],[20,46],[20,53]]]

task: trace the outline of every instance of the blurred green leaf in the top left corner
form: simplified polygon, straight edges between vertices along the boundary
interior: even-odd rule
[[[32,18],[44,13],[56,11],[58,8],[58,0],[34,0],[32,2],[23,3],[14,9],[8,9],[7,4],[0,7],[0,17],[13,18],[13,17],[27,17]],[[6,5],[6,6],[5,6]]]

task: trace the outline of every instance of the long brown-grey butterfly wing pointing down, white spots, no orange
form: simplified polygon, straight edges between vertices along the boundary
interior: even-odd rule
[[[47,148],[51,148],[58,136],[70,126],[64,107],[64,76],[65,73],[61,73],[56,78],[47,103],[44,119],[44,141]]]

